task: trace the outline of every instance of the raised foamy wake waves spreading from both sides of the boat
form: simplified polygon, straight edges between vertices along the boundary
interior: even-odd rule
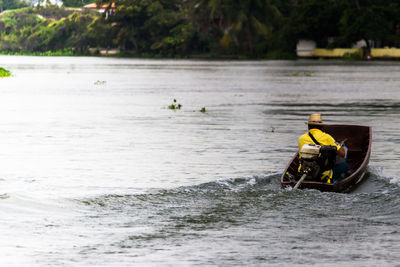
[[[134,194],[106,194],[96,197],[90,197],[79,200],[86,206],[98,206],[100,208],[108,205],[123,206],[125,204],[138,206],[145,203],[181,203],[185,205],[189,201],[208,201],[203,203],[213,205],[213,201],[233,201],[241,199],[243,202],[249,202],[254,196],[280,195],[284,192],[294,191],[282,189],[280,176],[277,172],[269,175],[257,175],[240,178],[230,178],[207,182],[199,185],[182,186],[172,189],[152,189],[144,193]],[[387,177],[382,175],[380,169],[370,167],[365,179],[350,194],[365,193],[387,193],[388,190],[399,190],[399,177]],[[302,190],[300,190],[302,191]],[[324,194],[316,190],[304,190]],[[253,199],[254,200],[254,199]],[[206,201],[206,202],[207,202]],[[139,205],[139,206],[140,206]],[[118,207],[116,207],[118,209]]]

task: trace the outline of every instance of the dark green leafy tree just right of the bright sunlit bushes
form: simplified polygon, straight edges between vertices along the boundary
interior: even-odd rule
[[[103,2],[99,2],[102,4]],[[181,0],[121,0],[109,11],[111,38],[122,50],[136,54],[183,54],[194,36],[194,27]],[[108,11],[106,11],[108,12]]]

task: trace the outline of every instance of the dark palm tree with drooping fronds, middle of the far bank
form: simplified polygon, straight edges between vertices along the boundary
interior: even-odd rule
[[[283,19],[268,0],[202,0],[195,10],[202,31],[220,38],[224,51],[248,55],[266,52]]]

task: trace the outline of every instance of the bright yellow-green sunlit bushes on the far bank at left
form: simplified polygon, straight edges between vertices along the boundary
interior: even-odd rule
[[[74,12],[50,6],[22,8],[0,17],[0,50],[45,52],[69,49],[85,53],[101,43],[96,29],[103,26],[97,13]]]

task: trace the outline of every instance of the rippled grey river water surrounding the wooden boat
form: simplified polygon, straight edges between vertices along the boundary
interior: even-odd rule
[[[397,62],[0,66],[13,73],[0,79],[2,266],[400,262]],[[350,194],[280,188],[313,112],[373,127]]]

